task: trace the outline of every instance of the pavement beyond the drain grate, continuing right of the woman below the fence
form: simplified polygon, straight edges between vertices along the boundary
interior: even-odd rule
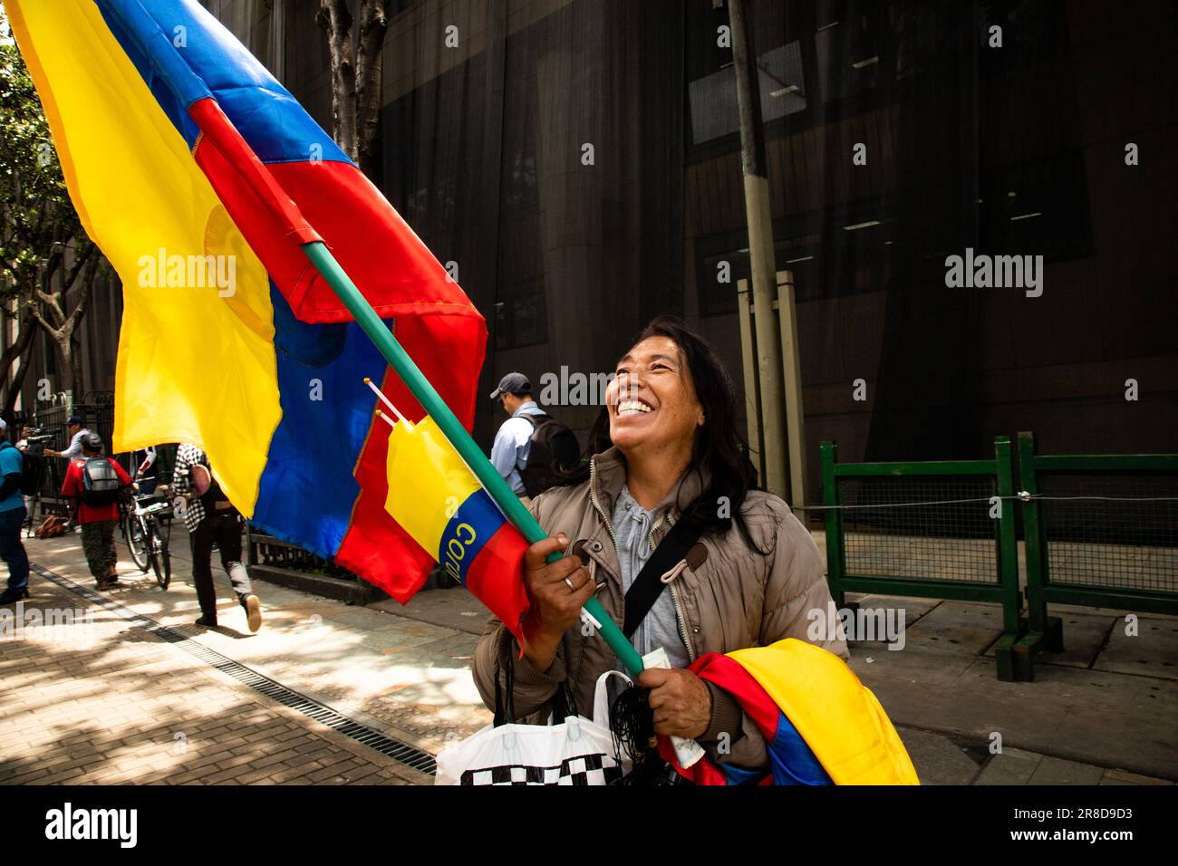
[[[421,593],[404,608],[349,607],[258,581],[265,622],[251,635],[214,567],[221,627],[207,630],[192,624],[199,609],[179,527],[172,547],[171,589],[140,576],[120,548],[124,586],[110,596],[430,753],[490,721],[470,677],[487,613],[465,591]],[[80,536],[31,540],[28,549],[38,564],[92,584]],[[46,584],[34,576],[32,586],[38,597]],[[988,654],[1000,630],[995,606],[875,596],[862,603],[905,610],[905,649],[853,643],[852,668],[895,722],[925,784],[1178,780],[1178,621],[1141,616],[1140,636],[1130,639],[1113,628],[1121,620],[1114,612],[1053,609],[1064,614],[1067,652],[1045,656],[1037,682],[1004,683]],[[5,677],[0,689],[9,688]],[[999,741],[1001,752],[992,753]]]

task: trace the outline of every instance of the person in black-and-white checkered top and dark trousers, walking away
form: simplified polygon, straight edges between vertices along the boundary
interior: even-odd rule
[[[209,474],[209,488],[200,491],[194,475],[201,467]],[[197,471],[194,471],[197,470]],[[233,593],[245,610],[251,632],[262,628],[262,602],[253,594],[250,574],[241,562],[241,515],[221,493],[212,477],[212,467],[203,450],[183,444],[176,454],[172,471],[172,494],[184,498],[184,525],[192,544],[192,582],[200,602],[198,626],[217,628],[217,590],[213,588],[213,544],[220,550],[221,566],[233,584]]]

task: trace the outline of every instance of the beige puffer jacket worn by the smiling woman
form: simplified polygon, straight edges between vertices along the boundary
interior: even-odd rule
[[[570,548],[588,558],[594,580],[604,584],[597,599],[618,627],[624,608],[610,516],[624,483],[626,460],[611,448],[593,458],[589,481],[552,488],[531,503],[531,513],[545,533],[551,536],[563,531],[571,540]],[[655,544],[674,525],[680,515],[677,505],[693,502],[703,487],[700,474],[689,471],[671,489],[655,509],[651,530]],[[785,637],[808,641],[807,614],[819,609],[825,615],[828,610],[830,593],[822,558],[809,531],[786,503],[770,494],[753,491],[744,500],[741,515],[753,541],[767,555],[750,549],[734,523],[723,536],[703,536],[699,542],[702,549],[697,544],[689,551],[689,564],[680,564],[677,576],[664,590],[673,594],[680,633],[693,660],[704,653],[768,646]],[[835,640],[816,643],[846,660],[847,643],[841,630],[838,634]],[[475,683],[491,708],[495,677],[501,675],[505,653],[515,659],[517,720],[529,722],[547,719],[548,701],[565,679],[577,710],[591,715],[597,676],[617,665],[614,652],[600,635],[587,637],[578,627],[565,633],[551,667],[536,670],[527,656],[519,656],[515,639],[492,617],[478,642],[474,666]],[[763,763],[765,741],[755,723],[741,718],[730,720],[730,725],[721,727],[730,732],[733,741],[727,760],[741,766]],[[740,725],[742,736],[735,735],[735,725]]]

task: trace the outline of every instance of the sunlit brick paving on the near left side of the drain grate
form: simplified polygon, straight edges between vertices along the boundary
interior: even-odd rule
[[[429,782],[44,577],[6,610],[0,785]]]

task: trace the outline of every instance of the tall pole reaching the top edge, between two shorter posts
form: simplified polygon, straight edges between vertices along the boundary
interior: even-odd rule
[[[761,430],[765,450],[765,487],[786,495],[785,408],[781,394],[781,343],[776,333],[773,300],[776,265],[773,253],[773,214],[761,124],[761,93],[756,52],[744,0],[728,0],[736,104],[740,108],[741,171],[744,176],[744,212],[748,220],[748,257],[753,280],[753,324],[761,391]]]

